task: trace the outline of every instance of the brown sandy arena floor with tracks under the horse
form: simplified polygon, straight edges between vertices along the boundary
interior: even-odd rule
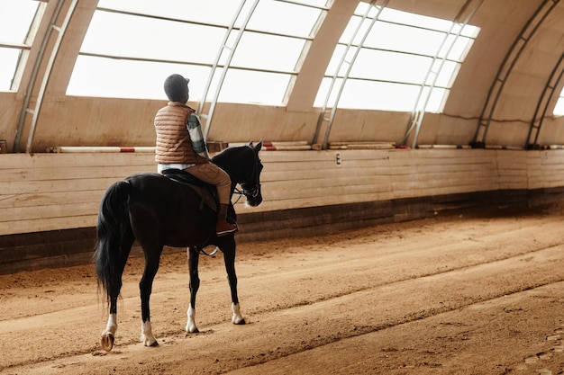
[[[94,266],[0,276],[1,374],[559,374],[564,217],[450,217],[241,244],[231,323],[221,255],[202,257],[186,335],[186,254],[163,255],[143,347],[124,273],[114,350]]]

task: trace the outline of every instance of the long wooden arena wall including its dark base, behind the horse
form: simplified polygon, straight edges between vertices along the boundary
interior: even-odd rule
[[[564,150],[261,151],[264,202],[236,204],[239,241],[305,236],[447,210],[553,204]],[[5,154],[0,273],[89,261],[105,189],[155,171],[147,153]]]

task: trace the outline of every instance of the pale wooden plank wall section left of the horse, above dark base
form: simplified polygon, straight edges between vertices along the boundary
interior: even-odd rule
[[[0,236],[94,227],[108,186],[156,169],[147,154],[6,154],[0,160]]]

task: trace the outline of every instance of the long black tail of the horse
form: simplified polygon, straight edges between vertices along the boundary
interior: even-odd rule
[[[105,192],[98,211],[94,258],[98,285],[104,288],[108,302],[112,296],[119,295],[125,259],[130,251],[121,247],[123,236],[131,232],[127,204],[131,187],[128,181],[114,183]]]

